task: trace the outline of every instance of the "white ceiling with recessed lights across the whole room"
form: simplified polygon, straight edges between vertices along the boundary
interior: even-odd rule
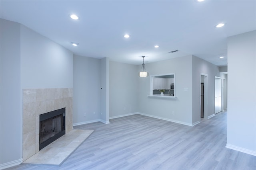
[[[72,20],[70,14],[79,19]],[[141,64],[141,56],[151,63],[194,55],[226,66],[227,37],[256,30],[256,1],[1,0],[0,17],[21,23],[76,55],[129,64]],[[220,22],[226,25],[216,28]],[[168,53],[174,50],[178,52]]]

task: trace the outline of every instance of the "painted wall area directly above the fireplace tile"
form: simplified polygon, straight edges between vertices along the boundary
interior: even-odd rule
[[[21,25],[21,86],[73,88],[73,53]]]

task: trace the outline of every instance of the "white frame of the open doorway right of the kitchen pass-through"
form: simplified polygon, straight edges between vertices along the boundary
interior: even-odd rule
[[[204,76],[204,118],[208,119],[208,74],[200,73],[199,87],[201,89],[201,76]],[[199,90],[200,104],[199,110],[201,111],[201,90]],[[201,121],[201,113],[199,114],[199,120]]]

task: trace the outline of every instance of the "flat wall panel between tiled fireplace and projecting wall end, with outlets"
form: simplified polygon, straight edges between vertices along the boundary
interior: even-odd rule
[[[100,119],[100,75],[100,59],[74,55],[74,124]]]

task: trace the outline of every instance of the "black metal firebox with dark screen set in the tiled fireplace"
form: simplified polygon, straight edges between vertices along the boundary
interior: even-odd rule
[[[65,108],[40,115],[39,150],[65,135]]]

